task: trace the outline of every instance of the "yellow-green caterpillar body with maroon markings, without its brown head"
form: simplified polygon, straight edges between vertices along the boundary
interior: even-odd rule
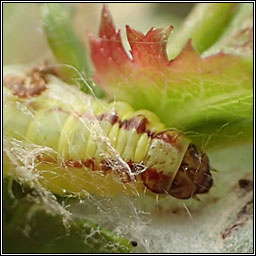
[[[37,157],[37,169],[44,170],[41,174],[50,189],[59,193],[57,180],[70,192],[85,186],[84,190],[98,193],[104,181],[113,189],[104,188],[108,192],[100,194],[119,193],[117,187],[127,191],[130,186],[136,193],[145,188],[169,191],[190,144],[181,132],[165,130],[150,111],[98,100],[54,76],[48,75],[48,80],[36,96],[15,96],[8,84],[4,87],[4,134],[51,149],[50,156]],[[72,182],[60,178],[63,173]]]

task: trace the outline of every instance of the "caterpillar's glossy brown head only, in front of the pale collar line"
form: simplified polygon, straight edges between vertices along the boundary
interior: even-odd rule
[[[187,199],[207,193],[212,184],[207,155],[191,143],[168,193],[179,199]]]

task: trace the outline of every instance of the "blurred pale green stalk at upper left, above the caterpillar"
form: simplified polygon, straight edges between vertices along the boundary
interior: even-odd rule
[[[72,24],[73,6],[44,3],[41,7],[43,27],[51,50],[62,65],[62,75],[72,84],[79,84],[86,93],[102,97],[103,93],[91,79],[92,67],[86,49]]]

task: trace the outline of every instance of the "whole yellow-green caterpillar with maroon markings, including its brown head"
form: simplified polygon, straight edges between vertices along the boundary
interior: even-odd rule
[[[45,67],[5,68],[3,82],[4,135],[50,149],[33,165],[53,193],[187,199],[213,184],[207,155],[148,110],[86,95]]]

